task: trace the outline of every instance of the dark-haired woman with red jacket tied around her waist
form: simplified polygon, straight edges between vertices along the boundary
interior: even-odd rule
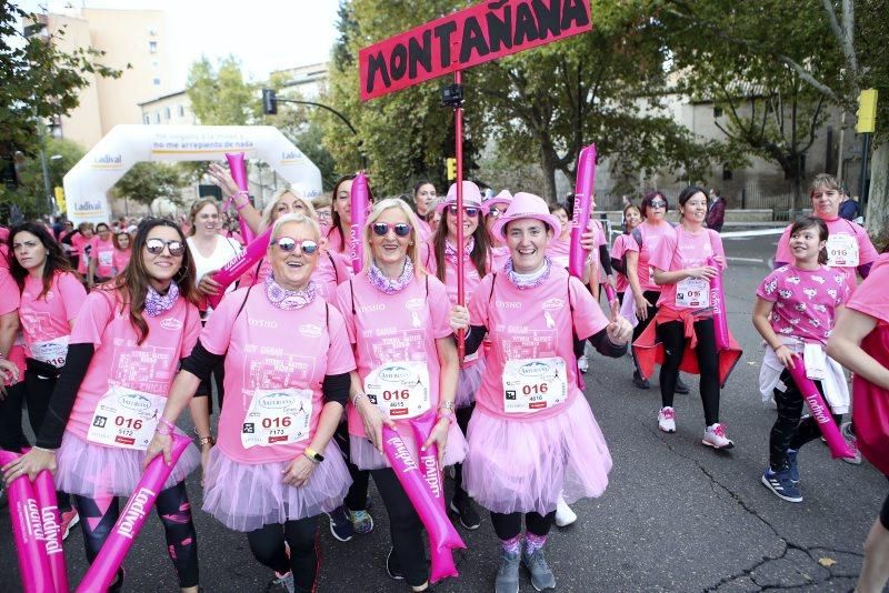
[[[680,364],[697,361],[697,368],[682,365],[682,370],[701,375],[706,426],[701,442],[716,449],[730,449],[735,443],[726,438],[725,428],[719,422],[719,388],[725,383],[720,373],[720,356],[723,353],[716,348],[712,308],[717,303],[710,302],[710,281],[721,273],[720,269],[725,270],[726,254],[719,233],[703,225],[707,192],[689,185],[681,191],[678,202],[681,215],[679,227],[663,238],[649,259],[655,282],[660,288],[658,312],[651,325],[633,342],[633,349],[645,378],[651,374],[653,366],[649,353],[655,350],[663,352],[658,428],[663,432],[676,432],[673,395]],[[708,258],[713,258],[720,269],[709,265]],[[731,354],[733,366],[733,362],[740,358],[740,351],[732,349],[731,352],[735,353]],[[656,358],[661,360],[660,356]]]

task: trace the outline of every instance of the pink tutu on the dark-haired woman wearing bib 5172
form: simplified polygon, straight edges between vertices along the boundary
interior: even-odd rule
[[[69,494],[99,499],[129,496],[142,479],[146,452],[82,441],[66,431],[56,454],[56,488]],[[179,458],[163,488],[174,486],[201,464],[201,454],[193,444]]]

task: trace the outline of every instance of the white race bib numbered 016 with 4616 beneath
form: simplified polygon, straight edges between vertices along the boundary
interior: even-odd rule
[[[503,366],[503,411],[527,414],[548,410],[568,399],[565,360],[519,359]]]

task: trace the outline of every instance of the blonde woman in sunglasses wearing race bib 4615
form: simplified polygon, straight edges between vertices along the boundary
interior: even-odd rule
[[[451,305],[444,285],[422,269],[417,218],[404,201],[374,204],[362,241],[363,270],[337,290],[358,363],[349,405],[349,456],[359,469],[371,470],[389,513],[389,574],[424,591],[429,570],[422,527],[382,455],[381,426],[397,426],[417,459],[423,443],[414,442],[407,419],[438,414],[426,444],[438,445],[446,465],[463,460],[466,440],[453,422],[459,360],[448,324]]]

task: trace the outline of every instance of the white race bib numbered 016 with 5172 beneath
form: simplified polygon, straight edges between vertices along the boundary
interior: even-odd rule
[[[167,398],[162,395],[111,385],[96,406],[87,440],[144,451],[166,403]]]

